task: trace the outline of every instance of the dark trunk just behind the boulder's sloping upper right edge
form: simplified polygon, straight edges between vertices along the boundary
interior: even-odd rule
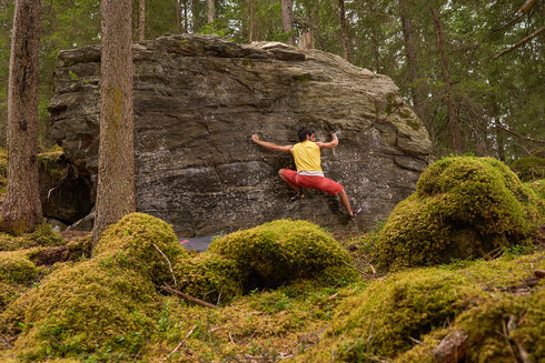
[[[426,129],[432,131],[428,112],[426,110],[429,90],[427,82],[420,77],[418,70],[418,59],[416,57],[413,23],[408,11],[408,0],[399,0],[399,14],[402,18],[403,37],[405,40],[405,51],[410,77],[410,93],[413,95],[413,102],[415,103],[415,112],[424,122]]]

